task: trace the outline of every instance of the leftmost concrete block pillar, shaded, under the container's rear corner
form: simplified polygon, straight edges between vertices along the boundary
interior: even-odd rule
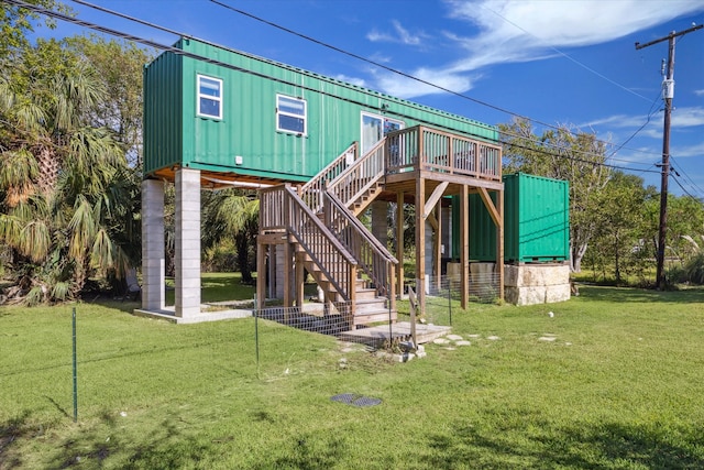
[[[164,276],[164,182],[142,182],[142,308],[162,310]]]

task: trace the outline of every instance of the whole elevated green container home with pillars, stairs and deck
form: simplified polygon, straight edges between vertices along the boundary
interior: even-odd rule
[[[416,240],[424,240],[427,230],[441,230],[443,196],[476,193],[503,233],[497,138],[493,125],[182,39],[144,69],[143,309],[165,308],[163,185],[174,182],[176,318],[202,317],[199,192],[239,186],[261,190],[262,303],[268,294],[300,306],[305,267],[327,303],[353,305],[351,327],[377,320],[378,303],[388,311],[402,289],[403,263],[356,216],[371,205],[400,203],[403,210],[413,203]],[[460,238],[466,241],[466,230]],[[416,258],[417,276],[439,275],[439,267],[426,269],[422,243]],[[355,314],[363,304],[364,318]]]

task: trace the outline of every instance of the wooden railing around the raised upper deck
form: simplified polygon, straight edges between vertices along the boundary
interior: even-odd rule
[[[501,146],[416,125],[386,135],[386,173],[426,170],[502,181]]]

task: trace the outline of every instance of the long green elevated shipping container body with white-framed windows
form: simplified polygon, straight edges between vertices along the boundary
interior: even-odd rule
[[[144,69],[146,175],[182,166],[305,182],[382,127],[498,138],[493,125],[274,61],[191,39],[174,47],[183,53]]]

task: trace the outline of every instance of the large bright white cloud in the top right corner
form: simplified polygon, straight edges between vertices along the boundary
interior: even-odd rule
[[[700,0],[447,0],[451,17],[480,34],[457,40],[469,53],[457,69],[534,61],[557,47],[586,46],[623,37],[682,14],[702,11]]]

